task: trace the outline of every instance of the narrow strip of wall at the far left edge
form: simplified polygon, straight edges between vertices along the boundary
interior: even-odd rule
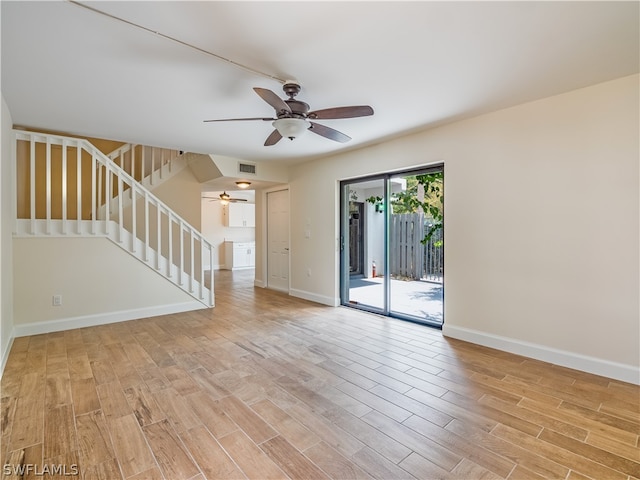
[[[4,371],[13,331],[13,261],[11,230],[12,209],[11,113],[2,97],[2,139],[0,143],[0,376]]]

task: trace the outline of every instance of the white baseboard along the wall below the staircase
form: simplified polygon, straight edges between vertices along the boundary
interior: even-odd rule
[[[158,315],[189,312],[191,310],[201,310],[203,308],[202,303],[193,301],[137,308],[135,310],[99,313],[96,315],[83,315],[80,317],[63,318],[60,320],[33,322],[24,325],[15,325],[13,327],[13,337],[26,337],[28,335],[61,332],[63,330],[73,330],[75,328],[95,327],[96,325],[106,325],[109,323],[125,322],[127,320],[136,320],[139,318],[157,317]]]

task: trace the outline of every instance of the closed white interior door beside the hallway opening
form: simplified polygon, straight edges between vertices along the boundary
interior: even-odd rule
[[[267,193],[267,287],[289,291],[289,191]]]

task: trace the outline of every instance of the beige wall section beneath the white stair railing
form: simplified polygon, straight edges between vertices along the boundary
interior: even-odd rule
[[[16,329],[194,302],[103,237],[15,238],[13,259]],[[53,306],[53,295],[62,295],[62,306]]]

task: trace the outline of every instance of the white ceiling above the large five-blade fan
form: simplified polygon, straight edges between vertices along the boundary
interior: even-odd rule
[[[300,161],[638,72],[632,2],[2,1],[2,94],[16,125],[251,161]],[[158,33],[152,33],[158,32]],[[181,42],[206,50],[210,55]],[[217,57],[216,57],[217,55]],[[219,57],[243,64],[240,68]],[[353,139],[264,147],[252,87],[311,109]]]

